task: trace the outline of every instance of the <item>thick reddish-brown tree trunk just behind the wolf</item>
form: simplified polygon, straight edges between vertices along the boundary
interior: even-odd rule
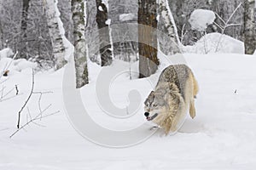
[[[139,77],[154,74],[159,65],[157,58],[156,0],[138,0]]]

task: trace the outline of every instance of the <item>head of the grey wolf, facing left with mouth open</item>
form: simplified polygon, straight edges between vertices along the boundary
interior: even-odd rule
[[[144,105],[144,116],[147,117],[148,121],[154,121],[156,117],[166,110],[165,92],[152,91],[145,100]]]

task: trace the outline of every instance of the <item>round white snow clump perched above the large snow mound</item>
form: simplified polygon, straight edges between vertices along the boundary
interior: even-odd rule
[[[195,9],[189,18],[192,30],[205,31],[211,25],[216,16],[213,11],[207,9]]]

